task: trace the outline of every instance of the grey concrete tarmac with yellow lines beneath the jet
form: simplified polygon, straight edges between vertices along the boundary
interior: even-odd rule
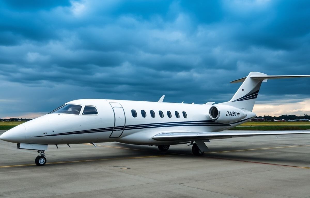
[[[39,167],[36,151],[0,140],[0,198],[310,197],[310,134],[206,145],[203,156],[186,144],[167,152],[116,142],[49,145]]]

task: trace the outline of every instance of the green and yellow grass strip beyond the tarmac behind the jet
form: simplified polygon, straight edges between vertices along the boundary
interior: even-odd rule
[[[0,130],[9,130],[24,121],[0,122]],[[290,131],[310,129],[310,122],[247,122],[232,130],[246,131]]]

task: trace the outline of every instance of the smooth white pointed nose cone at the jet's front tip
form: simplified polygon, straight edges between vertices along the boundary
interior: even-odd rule
[[[1,140],[7,142],[20,143],[26,138],[26,128],[20,124],[4,133],[0,136]]]

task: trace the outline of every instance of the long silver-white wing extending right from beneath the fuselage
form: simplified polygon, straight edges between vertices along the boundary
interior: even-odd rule
[[[162,132],[152,137],[157,141],[214,140],[233,137],[309,134],[310,131],[222,131],[222,132]]]

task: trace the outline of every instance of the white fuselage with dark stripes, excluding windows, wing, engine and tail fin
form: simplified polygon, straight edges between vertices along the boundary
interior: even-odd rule
[[[81,144],[90,142],[122,142],[127,144],[158,145],[152,136],[166,132],[223,131],[248,121],[255,116],[250,112],[234,123],[218,123],[210,119],[211,105],[184,103],[81,99],[66,104],[82,105],[80,114],[50,113],[11,129],[15,143],[31,144]],[[83,115],[85,106],[94,106],[98,114]],[[137,116],[133,117],[131,110]],[[142,116],[141,110],[146,112]],[[150,111],[154,111],[155,117]],[[159,111],[162,111],[163,118]],[[170,111],[171,118],[167,111]],[[175,112],[178,112],[179,118]],[[186,113],[184,118],[183,112]],[[153,116],[154,116],[153,114]],[[22,128],[24,127],[24,128]],[[25,134],[20,131],[25,129]],[[7,138],[9,140],[9,138]],[[9,140],[10,141],[10,140]],[[171,141],[165,144],[178,144]]]

